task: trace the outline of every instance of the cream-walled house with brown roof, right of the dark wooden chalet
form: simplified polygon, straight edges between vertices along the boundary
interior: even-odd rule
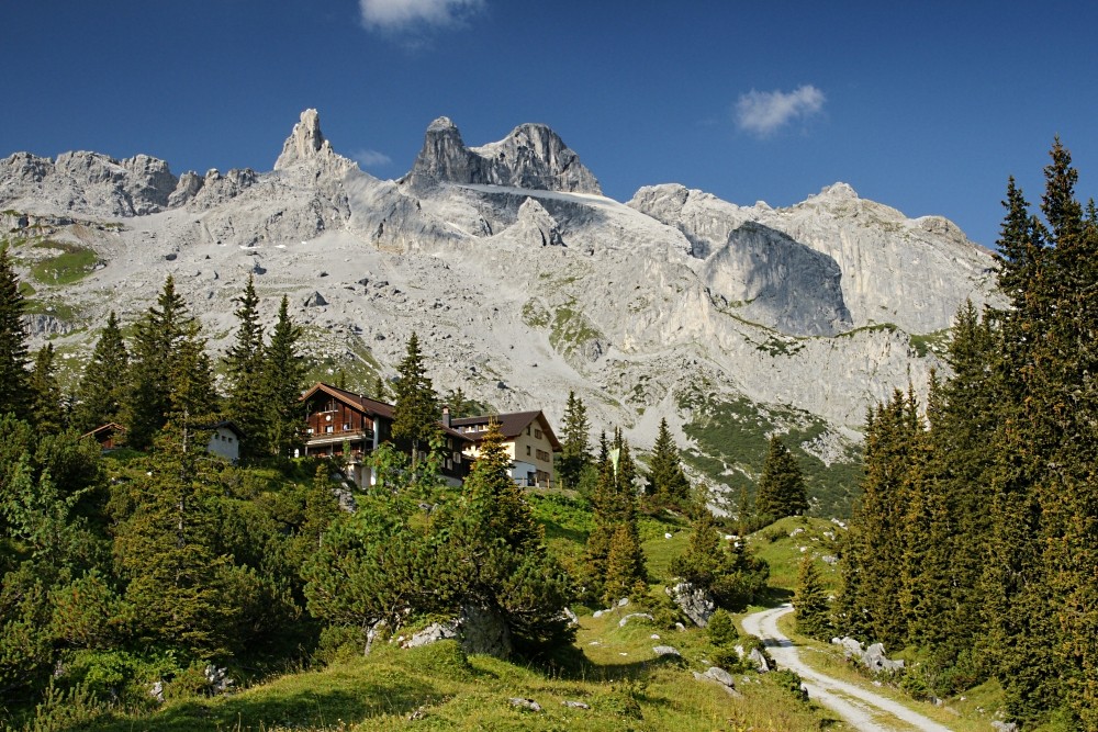
[[[446,420],[445,415],[442,419]],[[480,442],[488,433],[492,420],[500,424],[503,447],[511,455],[511,474],[515,483],[527,487],[550,487],[553,483],[553,453],[560,452],[561,447],[545,414],[540,410],[512,412],[451,419],[450,427],[470,440],[466,448],[470,458],[475,458],[480,452]]]

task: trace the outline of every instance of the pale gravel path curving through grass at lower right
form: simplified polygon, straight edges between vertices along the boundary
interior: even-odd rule
[[[928,732],[951,732],[944,724],[911,711],[897,701],[854,684],[825,676],[806,666],[800,661],[797,646],[777,629],[777,619],[787,612],[793,612],[791,605],[749,615],[743,619],[743,630],[761,638],[780,666],[800,675],[809,698],[832,709],[861,732],[893,732],[897,729],[910,729],[908,725]]]

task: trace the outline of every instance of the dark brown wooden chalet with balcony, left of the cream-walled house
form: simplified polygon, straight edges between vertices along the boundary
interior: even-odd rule
[[[347,457],[350,477],[357,485],[373,483],[369,466],[370,453],[382,442],[393,442],[411,451],[411,444],[393,440],[393,405],[371,399],[362,394],[348,392],[323,382],[317,383],[301,397],[305,403],[305,455]],[[446,436],[447,455],[442,460],[442,477],[459,485],[469,474],[467,457],[469,439],[461,432],[439,423]],[[421,457],[426,457],[423,452]]]

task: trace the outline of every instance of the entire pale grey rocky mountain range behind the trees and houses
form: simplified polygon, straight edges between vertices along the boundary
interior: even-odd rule
[[[621,203],[544,125],[467,147],[440,117],[396,180],[339,156],[315,110],[268,172],[177,178],[148,156],[68,155],[0,160],[0,207],[102,223],[51,234],[102,267],[33,282],[43,308],[79,314],[54,336],[75,362],[93,337],[81,328],[109,308],[134,319],[169,272],[223,349],[250,273],[261,293],[290,294],[333,369],[391,375],[415,330],[441,390],[554,420],[575,391],[595,424],[642,446],[660,417],[685,441],[698,405],[740,397],[856,441],[869,406],[943,368],[919,342],[965,299],[996,297],[990,254],[945,219],[908,219],[842,183],[784,209],[679,184]],[[42,229],[4,221],[29,274]]]

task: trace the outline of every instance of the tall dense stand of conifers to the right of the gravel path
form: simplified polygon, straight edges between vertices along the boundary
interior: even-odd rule
[[[1058,139],[1051,158],[1040,215],[1007,189],[1008,305],[957,314],[927,404],[869,415],[833,622],[916,649],[919,695],[997,679],[1017,722],[1095,730],[1098,214]]]

